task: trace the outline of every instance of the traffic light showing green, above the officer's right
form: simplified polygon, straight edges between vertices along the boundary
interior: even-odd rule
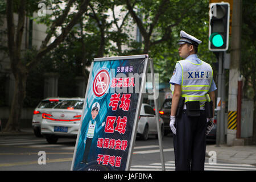
[[[229,3],[210,3],[209,7],[209,50],[226,51],[229,47]]]

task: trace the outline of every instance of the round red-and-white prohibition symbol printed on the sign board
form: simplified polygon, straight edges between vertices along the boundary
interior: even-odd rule
[[[103,96],[109,88],[109,72],[106,69],[102,69],[97,73],[93,81],[93,93],[96,97]]]

